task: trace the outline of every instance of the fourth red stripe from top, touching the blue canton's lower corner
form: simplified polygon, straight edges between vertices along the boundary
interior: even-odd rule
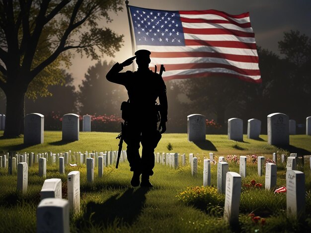
[[[243,43],[239,41],[203,41],[203,40],[189,40],[185,39],[185,45],[201,45],[211,47],[226,47],[226,48],[239,48],[239,49],[251,49],[256,50],[255,43]]]

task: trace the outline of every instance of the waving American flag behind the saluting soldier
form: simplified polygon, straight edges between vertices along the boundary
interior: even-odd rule
[[[137,50],[164,64],[164,81],[225,76],[260,83],[249,13],[157,10],[129,6]]]

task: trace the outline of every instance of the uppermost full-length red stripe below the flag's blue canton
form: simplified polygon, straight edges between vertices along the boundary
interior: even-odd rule
[[[221,54],[212,52],[152,52],[153,58],[224,58],[228,60],[258,63],[257,56]]]

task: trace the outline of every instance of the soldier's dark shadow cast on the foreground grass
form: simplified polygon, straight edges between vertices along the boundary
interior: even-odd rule
[[[132,225],[142,212],[148,191],[149,188],[128,188],[122,196],[118,197],[119,194],[116,194],[102,204],[89,202],[82,218],[90,221],[86,225],[105,228],[115,224]]]

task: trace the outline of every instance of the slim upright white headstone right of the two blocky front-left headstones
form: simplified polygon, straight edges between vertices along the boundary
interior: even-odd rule
[[[74,213],[80,211],[80,172],[73,171],[67,176],[68,201]]]

